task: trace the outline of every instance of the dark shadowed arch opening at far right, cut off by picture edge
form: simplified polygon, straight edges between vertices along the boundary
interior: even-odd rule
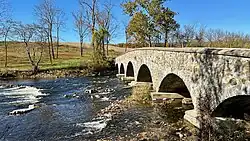
[[[250,96],[240,95],[224,100],[212,112],[213,117],[250,119]]]

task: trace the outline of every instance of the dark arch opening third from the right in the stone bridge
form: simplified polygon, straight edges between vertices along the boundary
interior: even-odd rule
[[[139,69],[137,82],[152,82],[150,70],[145,64],[143,64]]]

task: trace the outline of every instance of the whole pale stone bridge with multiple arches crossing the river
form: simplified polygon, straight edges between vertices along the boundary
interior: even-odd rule
[[[141,48],[117,57],[116,65],[156,92],[191,98],[194,109],[184,118],[196,126],[202,105],[216,117],[250,115],[249,49]]]

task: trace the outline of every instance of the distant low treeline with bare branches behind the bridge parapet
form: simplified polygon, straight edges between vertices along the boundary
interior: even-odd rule
[[[220,47],[250,48],[250,35],[241,32],[229,32],[222,29],[206,29],[205,26],[185,25],[183,29],[172,31],[168,43],[153,43],[152,47]],[[115,46],[140,48],[148,44],[136,42],[118,43]]]

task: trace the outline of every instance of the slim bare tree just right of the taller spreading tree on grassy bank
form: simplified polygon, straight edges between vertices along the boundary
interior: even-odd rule
[[[56,58],[58,58],[60,31],[64,25],[65,25],[65,13],[62,10],[57,10],[56,22],[55,22],[55,27],[56,27]]]

